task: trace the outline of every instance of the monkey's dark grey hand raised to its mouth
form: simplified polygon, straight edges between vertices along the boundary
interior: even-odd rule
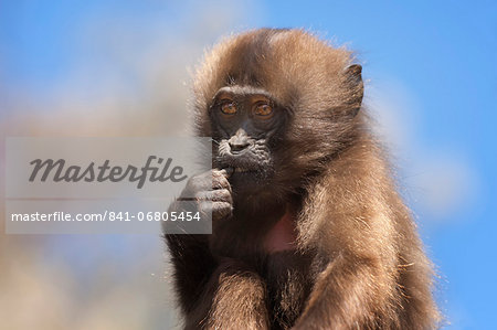
[[[186,201],[195,203],[197,210],[204,214],[212,212],[212,220],[228,219],[233,211],[231,185],[228,182],[230,170],[213,169],[188,180],[181,196],[170,209],[177,210]]]

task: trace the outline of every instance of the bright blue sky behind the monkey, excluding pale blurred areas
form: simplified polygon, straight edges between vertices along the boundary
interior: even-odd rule
[[[370,84],[398,82],[414,100],[408,111],[415,125],[402,119],[400,128],[411,131],[408,148],[415,151],[405,167],[419,155],[445,155],[469,169],[475,181],[470,198],[443,214],[416,210],[415,203],[414,211],[442,276],[438,297],[453,323],[447,329],[491,329],[497,296],[497,2],[258,1],[242,6],[231,23],[237,30],[311,29],[356,50]],[[192,29],[189,12],[195,9],[192,1],[2,1],[0,111],[8,110],[12,95],[50,93],[83,57],[92,56],[92,50],[76,38],[81,22],[141,17],[188,30]],[[205,12],[214,21],[232,19],[219,13]],[[383,98],[389,100],[388,91],[383,89]]]

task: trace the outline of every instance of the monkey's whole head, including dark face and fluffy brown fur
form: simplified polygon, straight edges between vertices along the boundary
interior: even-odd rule
[[[213,138],[213,166],[233,172],[236,193],[298,192],[355,140],[363,88],[349,53],[264,30],[209,60],[195,82],[198,134]]]

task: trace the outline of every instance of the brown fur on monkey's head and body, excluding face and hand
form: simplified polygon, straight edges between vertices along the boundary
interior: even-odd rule
[[[233,195],[208,235],[167,235],[186,328],[433,329],[432,268],[351,81],[351,53],[302,30],[216,45],[194,82],[195,128],[212,136],[219,88],[264,88],[292,113],[271,189]],[[360,74],[360,72],[359,72]],[[287,205],[294,251],[264,251]]]

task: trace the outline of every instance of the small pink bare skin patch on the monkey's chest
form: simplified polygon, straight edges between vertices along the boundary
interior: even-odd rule
[[[276,253],[296,248],[297,231],[290,212],[286,213],[269,230],[264,238],[264,248]]]

